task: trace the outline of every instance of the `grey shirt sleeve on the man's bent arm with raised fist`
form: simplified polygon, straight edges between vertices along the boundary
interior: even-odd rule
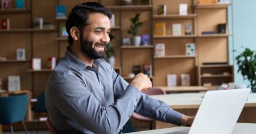
[[[102,106],[84,83],[71,74],[55,78],[50,97],[61,114],[93,133],[117,133],[129,120],[141,94],[128,86],[123,94],[108,107]]]

